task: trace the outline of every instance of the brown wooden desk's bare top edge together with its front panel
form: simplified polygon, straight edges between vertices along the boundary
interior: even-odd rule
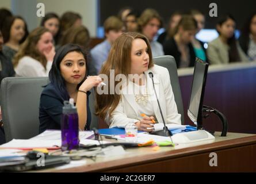
[[[215,143],[195,147],[129,148],[127,154],[112,157],[99,156],[96,160],[84,159],[82,166],[49,168],[40,172],[225,172],[256,171],[256,135],[228,133]],[[217,154],[217,167],[209,166],[209,154]]]

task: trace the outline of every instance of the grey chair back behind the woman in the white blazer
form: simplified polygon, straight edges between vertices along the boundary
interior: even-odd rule
[[[173,56],[158,56],[154,57],[153,61],[158,66],[165,67],[169,71],[174,99],[177,105],[178,113],[181,114],[181,124],[184,125],[184,109],[175,59]]]

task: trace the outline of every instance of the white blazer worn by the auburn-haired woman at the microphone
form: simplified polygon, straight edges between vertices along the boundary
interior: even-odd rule
[[[169,71],[165,67],[157,66],[151,67],[145,72],[147,76],[147,90],[148,94],[152,94],[150,99],[153,104],[154,113],[156,119],[162,122],[162,117],[160,110],[158,108],[158,102],[155,98],[154,88],[152,84],[152,79],[148,75],[152,72],[154,75],[154,85],[156,93],[158,94],[159,104],[162,109],[163,118],[165,118],[166,123],[181,124],[181,114],[178,114],[177,105],[174,101],[174,94],[171,88]],[[127,91],[126,87],[121,90],[121,99],[119,105],[113,111],[112,116],[106,116],[105,121],[112,127],[124,128],[129,122],[137,122],[141,119],[139,110],[137,108],[137,102],[135,101],[135,96],[133,94],[125,94],[122,91]]]

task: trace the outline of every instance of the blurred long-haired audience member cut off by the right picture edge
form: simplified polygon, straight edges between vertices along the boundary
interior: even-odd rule
[[[241,48],[250,60],[256,60],[256,11],[244,24],[239,38]]]

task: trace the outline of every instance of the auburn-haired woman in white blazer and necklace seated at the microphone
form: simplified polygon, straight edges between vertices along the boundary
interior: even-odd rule
[[[110,79],[125,76],[124,81]],[[143,34],[122,34],[112,45],[109,57],[100,74],[108,76],[108,94],[96,93],[96,114],[109,127],[124,128],[133,122],[141,131],[152,131],[153,122],[163,122],[150,75],[152,72],[155,90],[166,123],[181,124],[181,114],[171,88],[169,71],[152,62],[150,43]],[[121,87],[120,87],[121,86]],[[105,87],[105,86],[103,86]],[[112,89],[111,89],[112,87]],[[114,93],[110,93],[113,91]],[[142,114],[146,116],[142,117]]]

